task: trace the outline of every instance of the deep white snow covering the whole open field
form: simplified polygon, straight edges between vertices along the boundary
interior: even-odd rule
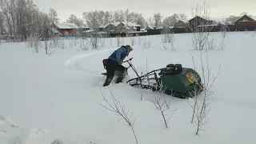
[[[215,33],[214,38],[221,38]],[[169,63],[184,67],[200,64],[200,51],[192,50],[189,34],[174,34],[174,49],[164,50],[161,36],[135,38],[129,58],[139,72],[162,68]],[[146,40],[146,41],[144,41]],[[130,38],[123,38],[123,45]],[[143,44],[150,42],[150,47]],[[171,98],[172,117],[166,129],[162,115],[149,101],[150,90],[140,90],[126,83],[102,87],[105,72],[102,59],[118,48],[116,39],[106,38],[98,50],[79,50],[79,41],[66,40],[51,55],[42,49],[34,53],[23,43],[0,44],[0,143],[63,144],[136,143],[130,126],[119,115],[106,110],[99,102],[103,94],[111,102],[110,90],[130,107],[134,132],[140,144],[167,143],[233,143],[253,144],[256,130],[256,34],[230,32],[226,34],[225,50],[202,51],[206,54],[213,76],[215,91],[210,98],[209,123],[198,135],[196,123],[191,123],[193,110],[186,99]],[[215,44],[219,44],[216,42]],[[130,44],[131,45],[131,44]],[[127,66],[126,64],[124,64]],[[130,78],[135,74],[129,70]],[[100,90],[99,90],[100,88]],[[141,101],[141,94],[144,96]],[[202,96],[198,96],[202,98]],[[174,111],[175,110],[175,111]],[[121,120],[121,121],[119,121]],[[55,144],[58,142],[55,141]]]

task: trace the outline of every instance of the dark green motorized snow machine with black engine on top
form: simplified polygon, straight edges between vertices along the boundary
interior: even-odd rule
[[[130,67],[137,75],[137,78],[126,81],[130,86],[158,91],[176,98],[193,98],[202,93],[203,86],[200,75],[191,68],[182,67],[181,64],[168,64],[166,67],[139,76],[131,63],[132,59],[125,61],[129,63],[129,66],[126,67],[126,76],[128,76],[127,70]],[[102,74],[106,75],[106,73]],[[116,71],[115,76],[118,74]]]

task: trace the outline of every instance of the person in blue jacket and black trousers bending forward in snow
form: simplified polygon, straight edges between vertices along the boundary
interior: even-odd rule
[[[117,83],[122,82],[124,78],[124,72],[126,67],[122,66],[122,61],[130,54],[133,48],[129,45],[121,46],[118,50],[115,50],[109,58],[103,60],[103,65],[106,68],[106,81],[103,86],[109,86],[110,82],[114,78],[114,71],[121,71],[121,74],[118,75]]]

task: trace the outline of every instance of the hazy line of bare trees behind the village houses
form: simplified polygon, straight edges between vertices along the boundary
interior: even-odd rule
[[[154,13],[149,18],[144,18],[142,14],[126,10],[103,11],[94,10],[82,13],[82,18],[74,14],[66,19],[66,22],[73,22],[78,26],[86,25],[90,29],[98,30],[101,25],[110,22],[133,21],[142,28],[146,26],[174,26],[178,20],[186,20],[186,14],[173,14],[163,17],[160,13]],[[226,18],[226,22],[234,21],[239,17],[231,15]],[[8,36],[18,36],[26,39],[31,34],[46,35],[53,23],[59,22],[58,13],[53,8],[46,12],[38,9],[32,0],[0,0],[0,34]]]

